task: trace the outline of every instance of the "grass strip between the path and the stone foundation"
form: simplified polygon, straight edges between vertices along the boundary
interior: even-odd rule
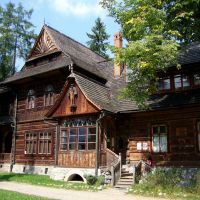
[[[42,185],[73,190],[97,191],[99,187],[101,187],[102,189],[104,188],[104,186],[100,186],[98,183],[96,185],[87,185],[85,183],[55,181],[53,179],[50,179],[49,176],[36,174],[0,173],[0,181],[15,181],[21,183],[29,183],[33,185]]]

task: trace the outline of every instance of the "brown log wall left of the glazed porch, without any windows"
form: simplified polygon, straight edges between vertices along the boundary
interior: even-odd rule
[[[17,105],[17,130],[16,130],[16,163],[30,165],[55,165],[55,133],[56,125],[48,124],[44,121],[45,114],[51,106],[44,106],[45,87],[52,84],[54,88],[54,102],[58,98],[60,91],[65,83],[64,79],[56,81],[51,79],[51,82],[39,81],[37,83],[27,83],[20,86],[17,90],[18,105]],[[29,89],[35,91],[35,108],[27,109],[27,94]],[[55,123],[55,122],[53,122]],[[38,149],[36,154],[25,154],[25,134],[26,132],[51,132],[52,134],[52,149],[51,154],[39,154]],[[38,141],[37,141],[38,143]]]

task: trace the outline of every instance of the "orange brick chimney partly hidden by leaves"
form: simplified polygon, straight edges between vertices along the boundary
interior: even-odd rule
[[[114,33],[114,47],[122,48],[122,34],[120,32]],[[122,64],[114,64],[114,77],[120,77],[123,71]]]

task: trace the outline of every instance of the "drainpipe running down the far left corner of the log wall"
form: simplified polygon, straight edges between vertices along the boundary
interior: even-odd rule
[[[12,138],[12,151],[11,151],[11,166],[10,172],[12,172],[13,165],[15,164],[15,153],[16,153],[16,131],[17,131],[17,93],[15,94],[15,105],[14,105],[14,113],[13,113],[13,124],[11,127],[13,128],[13,138]]]

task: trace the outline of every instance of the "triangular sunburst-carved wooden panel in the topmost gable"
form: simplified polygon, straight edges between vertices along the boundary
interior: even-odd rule
[[[29,55],[29,59],[38,57],[44,54],[48,54],[50,52],[58,51],[59,48],[49,35],[48,31],[43,27],[40,35]]]

